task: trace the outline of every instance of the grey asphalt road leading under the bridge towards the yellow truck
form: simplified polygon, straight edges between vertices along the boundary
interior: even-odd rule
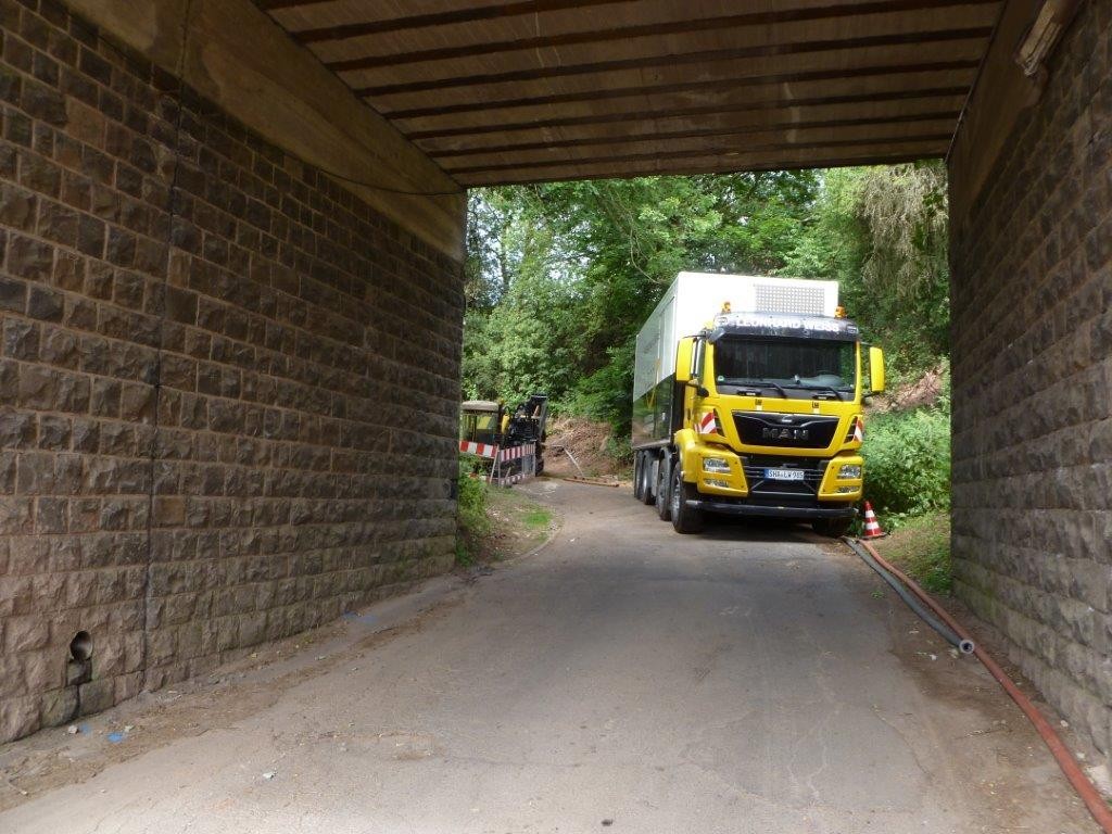
[[[131,718],[141,754],[0,832],[1094,831],[991,678],[846,553],[529,488],[564,514],[540,553],[436,585],[418,616],[377,606],[284,675],[157,696]],[[48,742],[81,761],[51,733],[36,761]]]

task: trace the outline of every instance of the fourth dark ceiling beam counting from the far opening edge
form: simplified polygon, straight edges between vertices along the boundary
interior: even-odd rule
[[[515,107],[542,107],[549,105],[567,105],[580,101],[609,101],[613,99],[638,98],[642,96],[665,96],[692,90],[706,90],[714,86],[716,92],[724,89],[742,87],[761,87],[764,85],[800,83],[804,81],[840,81],[850,78],[867,78],[872,76],[906,76],[915,72],[946,72],[953,70],[974,70],[980,66],[975,59],[955,61],[927,61],[924,63],[881,64],[872,67],[832,68],[807,70],[802,72],[776,72],[765,76],[744,76],[739,78],[718,79],[715,81],[684,81],[637,87],[617,87],[599,90],[583,90],[578,92],[558,93],[554,96],[537,96],[534,98],[502,99],[497,101],[461,101],[456,105],[415,107],[406,110],[389,110],[376,107],[380,116],[387,119],[418,119],[426,116],[447,116],[475,111],[505,110]],[[357,96],[367,98],[364,90],[356,90]]]

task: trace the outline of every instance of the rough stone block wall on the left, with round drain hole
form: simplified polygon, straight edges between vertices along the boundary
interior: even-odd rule
[[[56,0],[0,29],[6,741],[446,569],[463,292]]]

